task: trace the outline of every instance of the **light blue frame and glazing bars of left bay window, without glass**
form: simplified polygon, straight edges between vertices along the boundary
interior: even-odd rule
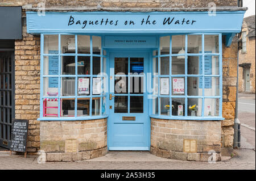
[[[46,54],[44,53],[44,35],[58,35],[58,53],[57,54]],[[61,35],[75,35],[75,53],[61,53]],[[92,78],[93,77],[100,77],[101,80],[103,78],[106,78],[105,74],[100,75],[93,75],[93,57],[100,57],[101,61],[101,73],[103,73],[103,62],[104,58],[106,56],[104,55],[103,50],[103,38],[102,36],[98,35],[87,35],[90,36],[90,54],[78,54],[77,53],[77,34],[74,33],[41,33],[40,35],[40,118],[38,120],[42,121],[60,121],[60,120],[91,120],[91,119],[102,119],[105,117],[108,117],[105,112],[102,113],[102,103],[103,99],[106,100],[106,92],[102,91],[100,95],[93,95],[92,94]],[[101,37],[101,54],[93,54],[93,41],[92,37],[98,36]],[[58,56],[59,57],[59,71],[58,75],[44,75],[44,56]],[[62,75],[61,74],[61,56],[75,56],[75,75]],[[77,56],[90,56],[90,74],[89,75],[78,75],[77,74]],[[106,66],[106,65],[105,65]],[[57,96],[44,96],[43,90],[44,90],[44,78],[45,77],[57,77],[58,78],[58,95]],[[75,78],[75,95],[74,96],[61,96],[60,95],[60,89],[61,89],[61,77],[73,77]],[[86,96],[79,96],[77,95],[77,79],[78,77],[89,77],[90,78],[90,95]],[[104,89],[103,89],[104,90]],[[98,98],[100,97],[100,115],[93,116],[92,115],[92,98]],[[57,117],[43,117],[43,99],[50,98],[50,99],[57,99],[58,101],[58,116]],[[75,116],[72,117],[61,117],[60,115],[60,99],[61,98],[72,98],[75,99]],[[90,108],[89,108],[89,116],[77,116],[77,99],[78,98],[90,98]],[[105,105],[106,107],[106,105]]]

